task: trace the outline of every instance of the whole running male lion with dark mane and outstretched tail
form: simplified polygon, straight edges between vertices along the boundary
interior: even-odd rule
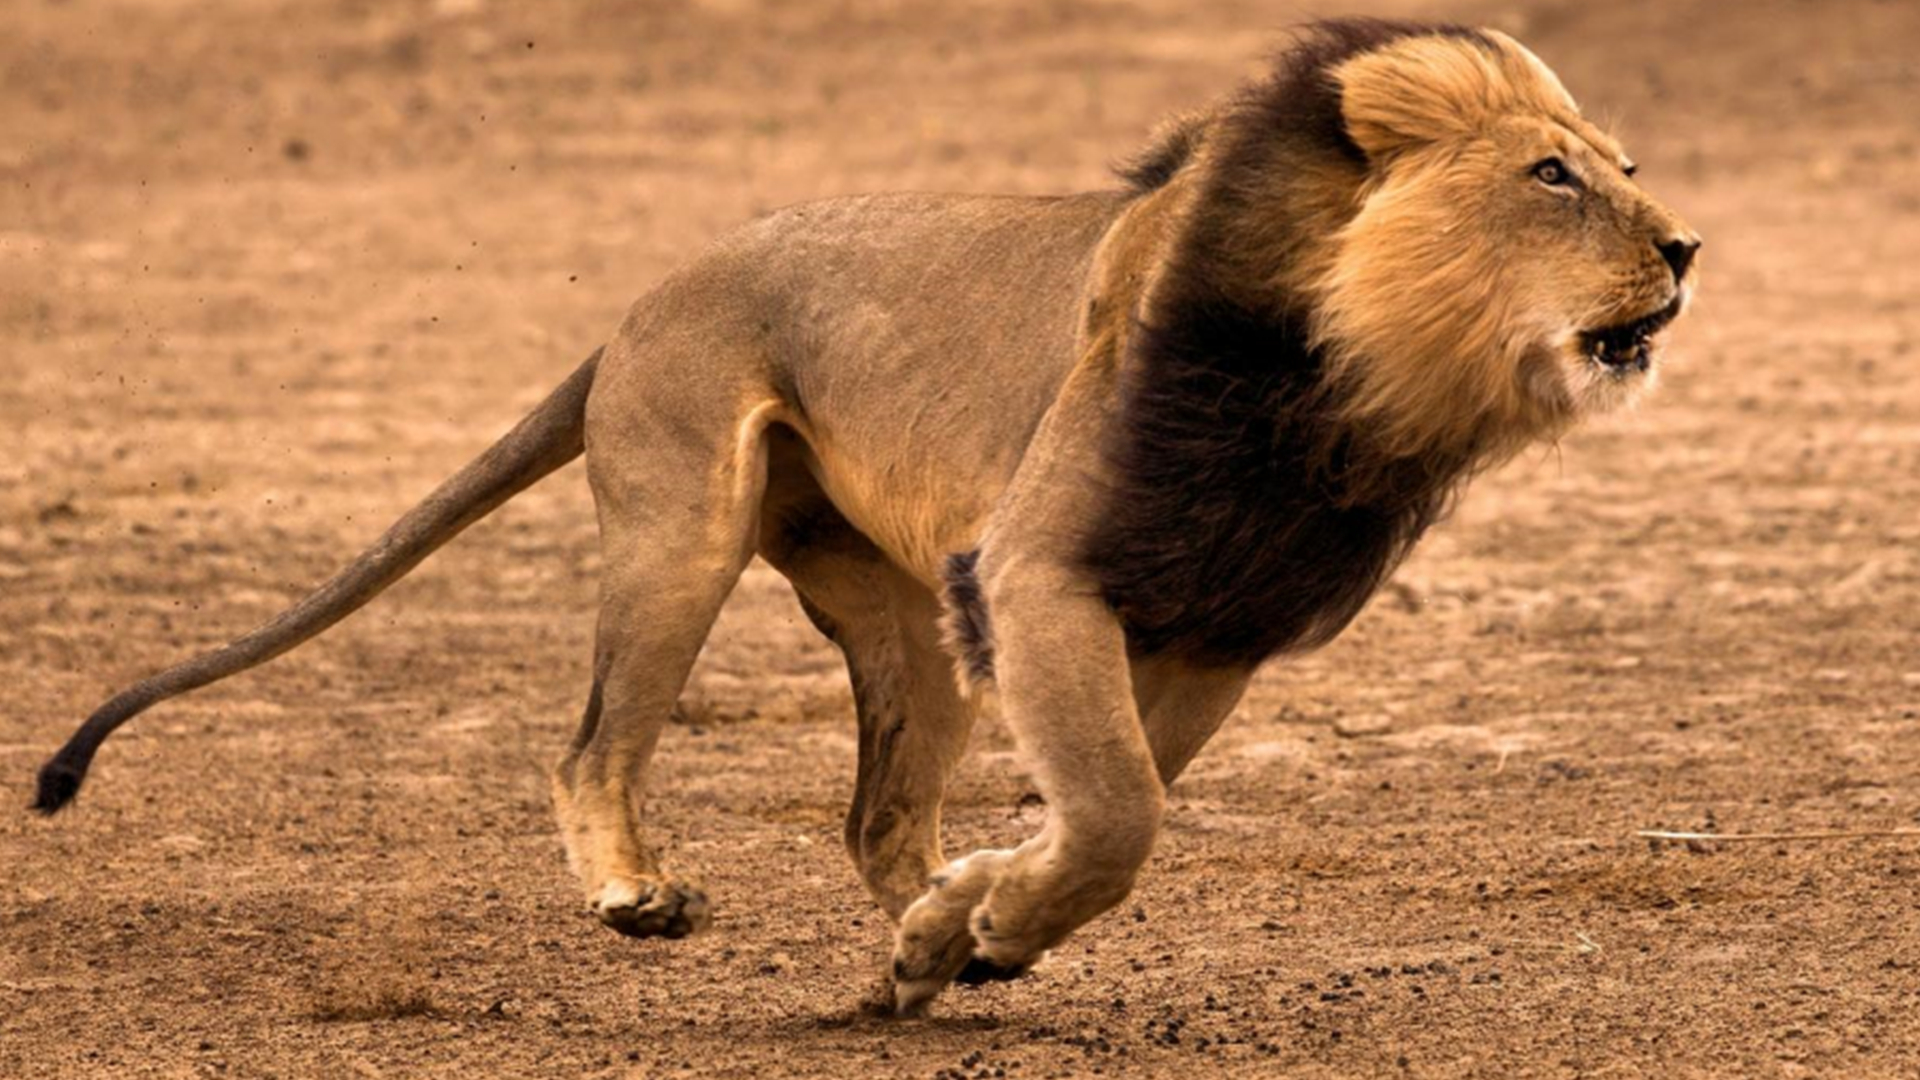
[[[1306,27],[1121,177],[724,236],[332,580],[88,717],[38,809],[140,711],[313,638],[586,454],[603,605],[551,778],[599,920],[710,922],[639,792],[760,555],[845,653],[845,840],[897,928],[891,1005],[1018,976],[1129,894],[1263,661],[1338,634],[1471,477],[1645,392],[1699,273],[1620,144],[1486,29]],[[1046,821],[948,863],[989,688]]]

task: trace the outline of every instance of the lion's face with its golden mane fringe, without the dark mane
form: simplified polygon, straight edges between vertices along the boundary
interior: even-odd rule
[[[1317,331],[1357,413],[1407,452],[1517,446],[1651,382],[1699,236],[1538,58],[1419,37],[1336,79],[1369,179]]]

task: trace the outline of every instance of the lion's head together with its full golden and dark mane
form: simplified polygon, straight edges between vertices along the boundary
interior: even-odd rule
[[[1085,565],[1131,648],[1206,665],[1332,640],[1469,477],[1649,382],[1695,273],[1490,31],[1315,23],[1123,175],[1104,273],[1139,298],[1089,306],[1125,396]]]

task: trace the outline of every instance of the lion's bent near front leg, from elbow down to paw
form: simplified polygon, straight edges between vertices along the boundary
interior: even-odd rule
[[[947,867],[900,920],[895,1007],[960,976],[1018,972],[1133,888],[1164,788],[1135,711],[1119,623],[1068,567],[983,561],[1002,711],[1033,759],[1046,826]],[[975,965],[981,967],[981,965]]]

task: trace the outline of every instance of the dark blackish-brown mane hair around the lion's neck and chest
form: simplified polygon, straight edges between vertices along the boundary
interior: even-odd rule
[[[1338,419],[1308,344],[1309,306],[1271,282],[1313,236],[1286,229],[1288,177],[1315,160],[1359,175],[1340,61],[1461,27],[1317,23],[1208,127],[1208,173],[1152,309],[1137,313],[1112,490],[1083,550],[1140,653],[1258,663],[1338,634],[1448,509],[1476,457],[1392,459]],[[1150,156],[1142,179],[1192,136]],[[1179,163],[1171,165],[1173,169]],[[1164,181],[1162,181],[1164,183]],[[1279,227],[1275,225],[1279,223]],[[1250,269],[1265,273],[1252,275]]]

